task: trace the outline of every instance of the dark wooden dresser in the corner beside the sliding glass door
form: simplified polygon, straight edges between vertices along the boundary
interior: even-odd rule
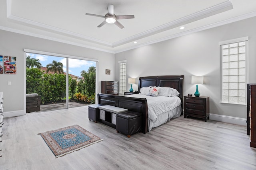
[[[118,94],[118,81],[101,81],[101,93]]]

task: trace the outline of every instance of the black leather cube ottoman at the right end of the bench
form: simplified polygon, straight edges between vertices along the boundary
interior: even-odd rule
[[[141,131],[142,114],[134,111],[125,111],[116,115],[116,132],[131,137]]]

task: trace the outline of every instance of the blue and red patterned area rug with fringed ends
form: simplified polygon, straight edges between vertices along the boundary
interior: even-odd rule
[[[38,135],[41,135],[56,158],[103,140],[79,125],[38,133]]]

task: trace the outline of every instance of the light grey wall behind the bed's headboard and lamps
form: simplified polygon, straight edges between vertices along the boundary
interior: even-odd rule
[[[116,54],[118,61],[127,61],[127,78],[140,76],[184,75],[184,95],[194,94],[196,85],[191,76],[204,75],[205,84],[198,85],[201,96],[210,96],[210,113],[246,118],[246,105],[220,103],[220,49],[219,42],[249,37],[249,83],[256,83],[256,18],[230,23],[220,27],[192,33],[160,43],[147,45]],[[127,84],[127,90],[130,84]]]

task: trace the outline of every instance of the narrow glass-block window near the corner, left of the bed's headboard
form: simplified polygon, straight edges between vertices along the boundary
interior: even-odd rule
[[[119,93],[126,91],[126,61],[119,61]]]

